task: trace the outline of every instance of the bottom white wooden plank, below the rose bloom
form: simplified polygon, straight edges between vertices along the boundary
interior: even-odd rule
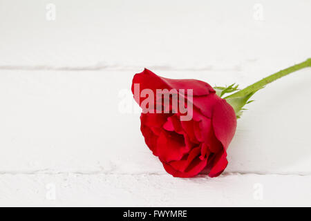
[[[310,206],[310,182],[299,175],[0,175],[0,205]]]

